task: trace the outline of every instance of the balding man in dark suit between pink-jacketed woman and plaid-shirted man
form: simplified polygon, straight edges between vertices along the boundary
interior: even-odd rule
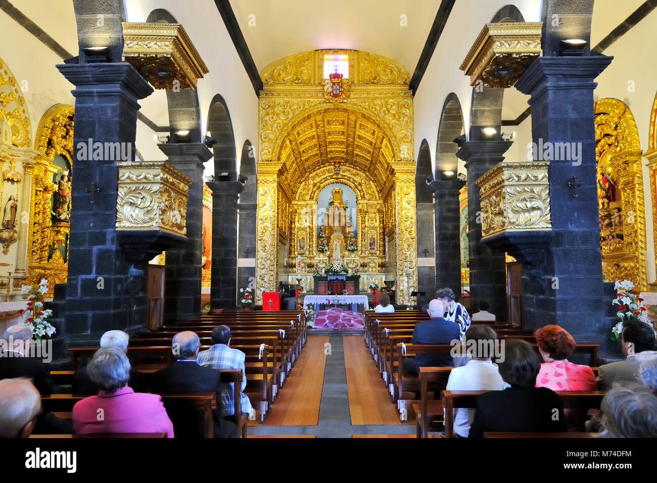
[[[237,438],[237,426],[221,417],[221,375],[215,369],[198,365],[196,358],[200,349],[198,335],[191,331],[179,332],[173,336],[173,354],[178,360],[154,373],[150,379],[152,392],[175,394],[184,392],[216,392],[217,409],[214,413],[214,437]],[[203,434],[203,421],[198,411],[185,411],[183,408],[169,408],[167,412],[176,437],[198,437]]]

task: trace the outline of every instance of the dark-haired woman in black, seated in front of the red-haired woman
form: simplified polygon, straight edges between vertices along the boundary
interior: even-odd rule
[[[537,388],[541,360],[525,340],[507,339],[499,375],[510,387],[477,398],[468,438],[482,438],[486,431],[564,432],[568,430],[564,402],[553,390]]]

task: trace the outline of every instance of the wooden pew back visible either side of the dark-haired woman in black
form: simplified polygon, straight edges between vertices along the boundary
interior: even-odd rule
[[[454,435],[453,409],[477,407],[477,398],[488,391],[443,391],[442,402],[445,407],[445,438]],[[555,391],[564,402],[564,409],[597,409],[606,391]]]

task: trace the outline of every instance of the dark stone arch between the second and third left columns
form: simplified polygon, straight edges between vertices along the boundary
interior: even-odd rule
[[[228,112],[226,101],[219,94],[215,95],[210,102],[206,131],[208,131],[210,137],[217,141],[212,147],[215,179],[219,179],[221,173],[229,173],[231,181],[235,181],[237,179],[237,167],[233,122],[231,122],[231,115]]]

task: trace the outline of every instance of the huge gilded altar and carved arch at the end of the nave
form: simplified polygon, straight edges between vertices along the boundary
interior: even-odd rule
[[[330,102],[324,61],[334,54],[348,58],[348,95]],[[361,290],[393,277],[405,303],[417,290],[409,72],[390,58],[331,49],[290,55],[260,75],[256,304],[286,275],[312,287],[312,274],[328,266],[336,244],[350,273],[362,274]],[[351,237],[346,227],[322,223],[328,213],[319,211],[317,196],[333,183],[355,193],[357,206],[343,210],[352,217]]]

